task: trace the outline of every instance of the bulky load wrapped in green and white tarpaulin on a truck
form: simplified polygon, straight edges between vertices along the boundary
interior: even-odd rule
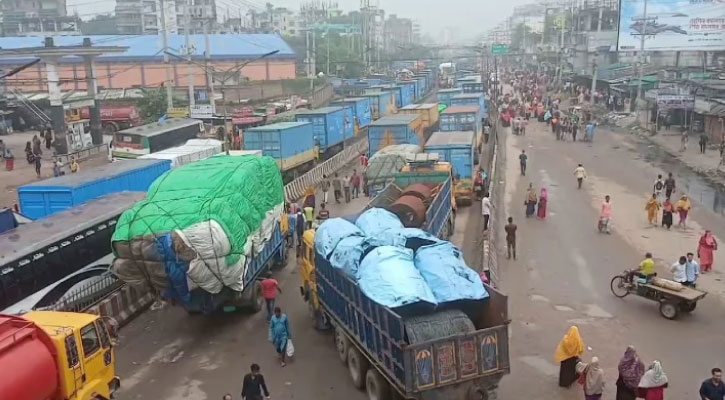
[[[201,288],[244,288],[247,263],[272,236],[284,203],[270,157],[219,156],[157,179],[123,213],[112,238],[114,272],[184,303]]]

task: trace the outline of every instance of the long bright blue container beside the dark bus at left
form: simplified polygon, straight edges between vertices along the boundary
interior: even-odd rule
[[[118,192],[145,192],[170,160],[122,160],[18,188],[24,215],[36,219]]]

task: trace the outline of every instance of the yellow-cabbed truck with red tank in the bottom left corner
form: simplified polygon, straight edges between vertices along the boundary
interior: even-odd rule
[[[120,387],[111,334],[92,314],[0,314],[0,399],[110,400]]]

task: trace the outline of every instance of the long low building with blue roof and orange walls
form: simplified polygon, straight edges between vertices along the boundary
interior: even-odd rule
[[[164,85],[166,66],[163,61],[161,37],[159,35],[127,37],[118,36],[57,36],[57,46],[81,45],[82,39],[88,37],[93,43],[128,47],[119,54],[99,56],[96,63],[97,85],[99,89],[130,89],[158,88]],[[38,46],[39,38],[34,37],[3,37],[0,48],[16,49]],[[206,71],[202,67],[204,60],[204,35],[191,35],[190,42],[197,51],[192,55],[192,74],[197,85],[204,85]],[[185,44],[184,35],[169,35],[169,47],[181,49]],[[217,74],[235,71],[240,63],[249,62],[239,72],[230,72],[225,83],[228,86],[239,85],[247,80],[265,81],[295,78],[294,51],[277,35],[266,34],[212,34],[210,35],[211,60],[209,64]],[[277,50],[278,53],[259,59],[262,54]],[[172,85],[187,86],[188,66],[182,60],[172,59]],[[29,59],[1,59],[0,69],[9,70],[29,62]],[[59,60],[59,79],[63,91],[85,90],[85,69],[77,58]],[[218,76],[218,75],[217,75]],[[9,87],[23,92],[47,91],[45,65],[38,63],[27,68],[12,78],[7,79]]]

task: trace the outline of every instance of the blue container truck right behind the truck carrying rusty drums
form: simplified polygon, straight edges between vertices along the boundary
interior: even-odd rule
[[[453,168],[453,194],[457,204],[473,203],[476,136],[473,131],[434,132],[423,151],[438,154]]]

